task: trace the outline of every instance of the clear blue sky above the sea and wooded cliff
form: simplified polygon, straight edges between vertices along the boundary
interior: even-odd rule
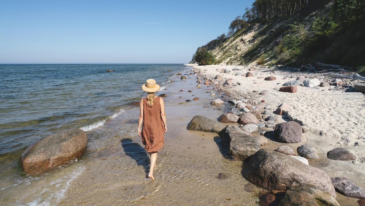
[[[253,1],[2,1],[0,64],[188,63]]]

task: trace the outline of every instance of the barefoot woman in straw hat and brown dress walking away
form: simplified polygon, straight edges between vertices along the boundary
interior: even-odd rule
[[[165,105],[164,100],[155,95],[160,86],[154,79],[147,79],[142,89],[147,91],[148,95],[139,104],[138,135],[142,138],[145,150],[150,154],[151,166],[148,177],[154,180],[153,169],[156,165],[157,151],[164,146],[164,135],[167,131]]]

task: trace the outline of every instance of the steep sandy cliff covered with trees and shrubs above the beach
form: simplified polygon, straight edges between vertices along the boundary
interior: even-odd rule
[[[256,0],[205,48],[215,64],[365,65],[365,0]],[[196,62],[196,54],[192,63]]]

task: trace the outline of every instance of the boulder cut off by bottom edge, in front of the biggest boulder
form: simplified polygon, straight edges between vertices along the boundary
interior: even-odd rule
[[[318,203],[319,202],[319,203]],[[278,206],[340,206],[329,192],[311,184],[303,184],[287,190]]]

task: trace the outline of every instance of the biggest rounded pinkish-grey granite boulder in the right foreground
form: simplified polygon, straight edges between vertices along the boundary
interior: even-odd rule
[[[312,184],[336,197],[331,179],[324,171],[273,150],[260,149],[251,156],[245,176],[267,190],[286,191]]]

